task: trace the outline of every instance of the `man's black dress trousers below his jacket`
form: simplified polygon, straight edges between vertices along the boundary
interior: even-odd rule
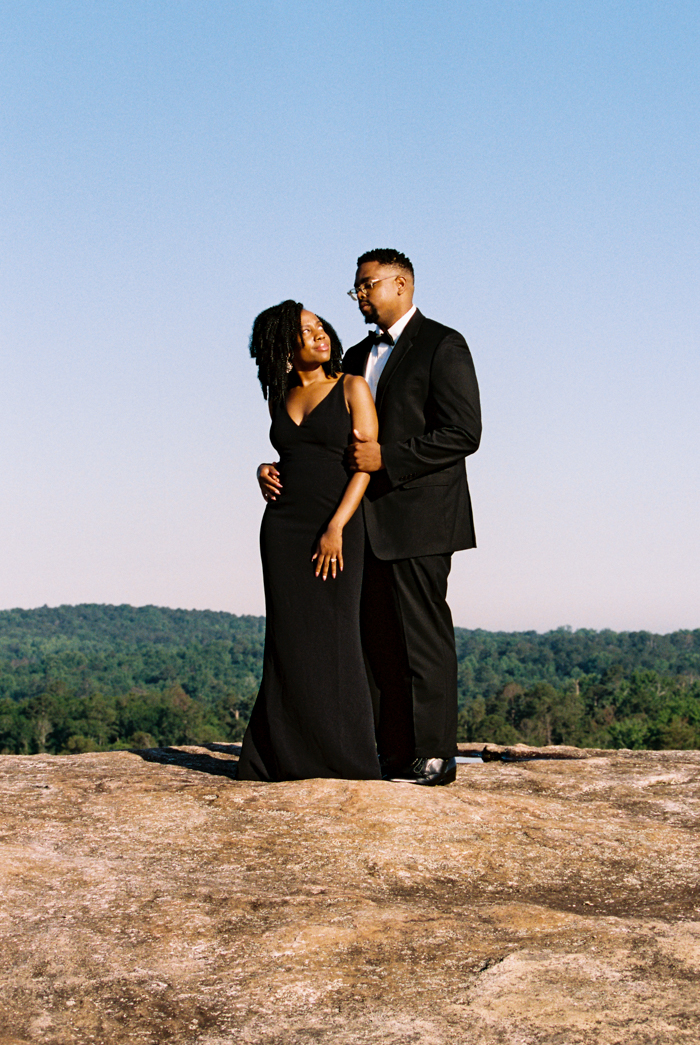
[[[365,545],[360,631],[384,763],[457,753],[450,555],[384,561]]]

